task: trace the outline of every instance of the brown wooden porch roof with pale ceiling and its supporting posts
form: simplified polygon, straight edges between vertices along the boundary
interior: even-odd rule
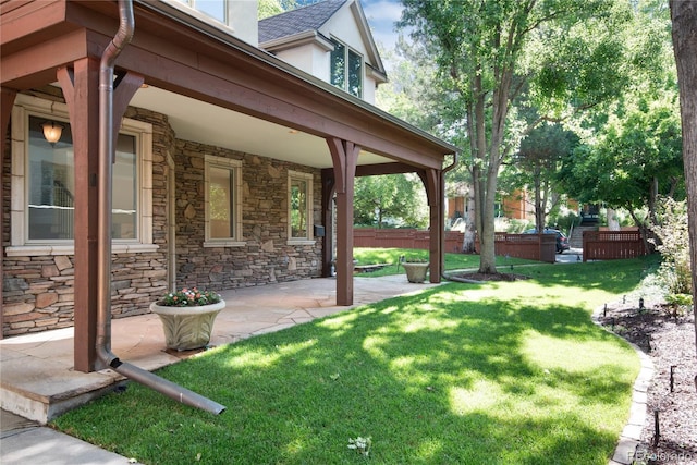
[[[273,160],[320,170],[319,224],[325,228],[320,238],[321,276],[329,277],[335,259],[332,298],[341,307],[353,305],[355,296],[352,228],[355,176],[416,172],[424,181],[430,207],[429,257],[433,270],[430,280],[440,282],[437,271],[442,270],[443,170],[447,162],[453,161],[449,156],[455,152],[454,147],[164,2],[134,3],[135,35],[117,61],[114,133],[119,132],[124,114],[142,108],[167,115],[180,139],[264,154]],[[14,148],[7,148],[11,146],[8,129],[21,124],[12,120],[19,95],[52,95],[58,102],[64,101],[61,105],[66,106],[72,126],[75,170],[72,355],[74,369],[85,372],[103,368],[95,353],[98,307],[95,180],[100,163],[105,162],[97,155],[99,62],[118,26],[115,1],[28,1],[2,5],[0,127],[5,152],[0,157],[4,164],[0,171],[8,175],[4,179],[10,178],[10,170],[16,169],[16,162],[12,162]],[[230,137],[231,133],[234,137]],[[176,158],[167,150],[162,158],[158,157],[156,154],[151,160],[154,171],[176,170]],[[5,197],[10,189],[3,185],[0,193]],[[0,203],[4,209],[10,199],[0,198]],[[0,218],[0,222],[4,261],[4,244],[14,241],[14,236],[8,241],[12,225],[7,224],[5,218]],[[158,231],[158,227],[167,231]],[[169,221],[159,225],[149,223],[149,228],[150,234],[154,231],[163,236],[169,234],[162,245],[151,248],[167,248],[160,253],[167,257],[167,282],[173,285],[178,282],[175,231]],[[21,252],[22,247],[13,249],[13,254]],[[4,302],[2,295],[0,301]]]

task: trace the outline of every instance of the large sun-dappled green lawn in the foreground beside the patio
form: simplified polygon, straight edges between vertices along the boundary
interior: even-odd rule
[[[539,265],[390,298],[158,372],[219,416],[132,383],[53,426],[145,464],[606,465],[639,363],[590,313],[646,268]]]

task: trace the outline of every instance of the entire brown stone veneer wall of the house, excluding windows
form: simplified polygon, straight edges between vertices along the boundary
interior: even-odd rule
[[[52,98],[54,98],[52,96]],[[314,174],[314,218],[319,223],[321,182],[318,170],[269,158],[176,140],[167,115],[130,108],[127,118],[152,124],[152,240],[151,253],[113,254],[112,315],[148,313],[167,291],[167,154],[176,163],[176,282],[178,286],[223,289],[318,277],[321,242],[286,245],[288,170]],[[243,160],[245,246],[205,248],[204,156]],[[2,150],[4,216],[2,242],[10,244],[10,148]],[[3,256],[3,335],[73,326],[74,257]]]

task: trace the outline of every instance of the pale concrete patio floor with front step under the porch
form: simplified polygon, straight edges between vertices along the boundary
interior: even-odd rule
[[[408,283],[404,274],[356,277],[353,307],[433,285]],[[352,308],[337,306],[335,294],[332,278],[223,291],[227,307],[216,319],[210,345],[234,343]],[[113,319],[111,334],[111,350],[121,360],[150,371],[195,352],[166,351],[162,326],[154,314]],[[73,328],[1,340],[0,375],[0,407],[39,424],[124,380],[111,369],[73,370]]]

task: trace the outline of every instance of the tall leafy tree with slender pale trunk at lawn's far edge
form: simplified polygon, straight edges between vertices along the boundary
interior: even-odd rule
[[[494,273],[499,170],[521,137],[616,94],[625,70],[624,2],[607,0],[403,0],[402,26],[430,52],[450,105],[441,124],[464,127],[480,238],[479,271]],[[628,7],[628,5],[626,5]],[[523,97],[541,109],[517,118]]]

